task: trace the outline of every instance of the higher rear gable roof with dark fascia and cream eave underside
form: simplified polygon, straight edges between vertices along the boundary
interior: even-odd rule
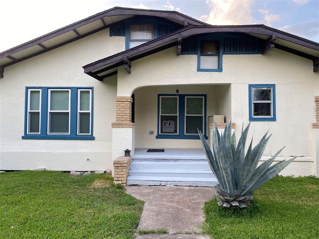
[[[4,68],[24,61],[33,56],[45,53],[57,47],[61,47],[70,42],[99,32],[112,25],[116,25],[119,23],[119,21],[123,21],[133,16],[166,18],[181,25],[208,25],[177,11],[114,7],[1,52],[0,66]]]

